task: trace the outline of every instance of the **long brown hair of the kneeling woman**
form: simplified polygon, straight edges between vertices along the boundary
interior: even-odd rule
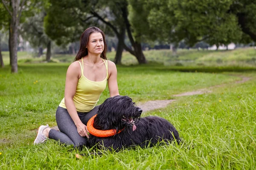
[[[77,60],[81,59],[82,57],[88,55],[88,50],[87,50],[86,46],[89,41],[90,34],[97,33],[97,32],[102,34],[103,42],[104,42],[104,50],[102,51],[102,54],[100,54],[100,57],[103,59],[107,59],[107,44],[105,41],[105,34],[101,29],[93,26],[93,27],[87,28],[84,31],[84,33],[81,35],[80,48],[79,48],[78,53],[76,54],[76,58],[74,59],[74,61],[77,61]]]

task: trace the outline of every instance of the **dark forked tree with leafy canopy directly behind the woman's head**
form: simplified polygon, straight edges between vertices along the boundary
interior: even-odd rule
[[[49,2],[51,5],[47,11],[45,26],[47,34],[53,40],[58,41],[58,36],[56,35],[59,35],[60,32],[60,37],[67,38],[74,35],[70,34],[73,28],[77,31],[80,28],[86,28],[91,25],[100,26],[105,33],[115,34],[118,39],[116,63],[121,61],[124,48],[134,55],[139,63],[146,62],[141,44],[134,40],[132,36],[131,24],[128,20],[127,0],[69,0],[64,2],[49,0]],[[58,11],[61,12],[61,17],[57,17]],[[53,12],[55,13],[53,14]],[[125,44],[126,31],[134,49]],[[57,32],[58,34],[55,34]],[[81,35],[81,32],[79,35]]]

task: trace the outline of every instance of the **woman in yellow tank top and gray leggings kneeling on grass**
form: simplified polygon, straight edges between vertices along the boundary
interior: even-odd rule
[[[81,35],[75,62],[67,69],[65,96],[55,115],[60,131],[42,125],[34,144],[48,138],[74,147],[85,144],[89,137],[86,124],[97,113],[96,104],[107,82],[110,96],[119,95],[116,65],[107,60],[106,52],[103,31],[97,27],[87,28]]]

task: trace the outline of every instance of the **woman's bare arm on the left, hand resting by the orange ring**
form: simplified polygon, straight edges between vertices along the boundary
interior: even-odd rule
[[[78,83],[78,79],[81,75],[81,68],[78,62],[73,62],[70,64],[69,68],[67,69],[67,76],[66,76],[66,84],[65,84],[65,105],[67,108],[70,117],[74,121],[77,132],[80,136],[87,136],[87,127],[81,122],[79,116],[76,111],[75,104],[73,102],[73,97],[76,93],[76,86]]]

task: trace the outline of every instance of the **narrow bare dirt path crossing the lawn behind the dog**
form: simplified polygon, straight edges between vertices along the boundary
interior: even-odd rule
[[[240,76],[241,77],[241,76]],[[232,84],[239,84],[239,83],[244,83],[247,82],[248,80],[250,80],[250,77],[241,77],[242,79],[236,82],[231,82]],[[211,93],[211,89],[213,88],[217,88],[217,87],[223,87],[224,85],[227,84],[231,84],[231,83],[225,83],[225,84],[221,84],[221,85],[215,85],[209,88],[202,88],[196,91],[189,91],[189,92],[185,92],[182,94],[175,94],[173,96],[175,97],[179,97],[179,96],[192,96],[192,95],[196,95],[196,94],[206,94],[206,93]],[[175,99],[170,99],[170,100],[150,100],[147,101],[145,103],[138,103],[137,106],[139,108],[141,108],[143,110],[143,112],[145,113],[146,111],[151,111],[154,109],[158,109],[158,108],[165,108],[167,105],[169,105],[171,102],[174,102]],[[55,130],[58,130],[58,127],[52,127]]]

